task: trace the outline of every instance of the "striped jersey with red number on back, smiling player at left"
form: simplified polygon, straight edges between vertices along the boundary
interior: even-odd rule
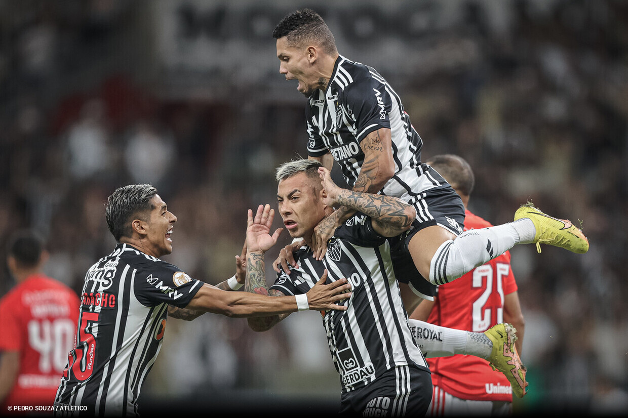
[[[175,265],[118,244],[85,274],[75,348],[55,405],[82,415],[133,416],[161,348],[168,304],[185,308],[203,282]]]

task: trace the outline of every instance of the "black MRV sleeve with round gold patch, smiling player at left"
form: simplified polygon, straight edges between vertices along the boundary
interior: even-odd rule
[[[153,262],[138,269],[135,276],[135,295],[144,306],[161,303],[185,308],[203,286],[203,282],[188,276],[176,265]]]

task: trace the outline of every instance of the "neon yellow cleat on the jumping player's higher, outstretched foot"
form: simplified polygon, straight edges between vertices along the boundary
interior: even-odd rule
[[[521,218],[529,218],[534,223],[536,228],[534,243],[538,252],[541,252],[541,244],[554,245],[578,254],[588,251],[587,237],[569,220],[546,215],[532,203],[522,205],[514,213],[514,220]]]

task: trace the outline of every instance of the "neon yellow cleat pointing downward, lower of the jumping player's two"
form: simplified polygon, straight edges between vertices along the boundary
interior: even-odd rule
[[[517,330],[508,323],[501,323],[490,327],[484,331],[484,335],[489,337],[493,343],[493,350],[490,353],[490,367],[493,370],[504,373],[512,386],[512,393],[522,398],[526,394],[526,367],[521,363],[517,348],[514,342],[517,341]]]

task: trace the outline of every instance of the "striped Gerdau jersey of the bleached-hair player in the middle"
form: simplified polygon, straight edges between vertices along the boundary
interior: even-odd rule
[[[352,296],[340,304],[347,311],[327,311],[323,326],[329,350],[340,373],[342,390],[363,387],[395,366],[417,365],[428,370],[408,324],[393,272],[389,242],[372,228],[371,218],[357,213],[336,229],[323,260],[310,247],[295,254],[299,268],[277,275],[271,289],[303,294],[328,271],[327,282],[346,277]]]

